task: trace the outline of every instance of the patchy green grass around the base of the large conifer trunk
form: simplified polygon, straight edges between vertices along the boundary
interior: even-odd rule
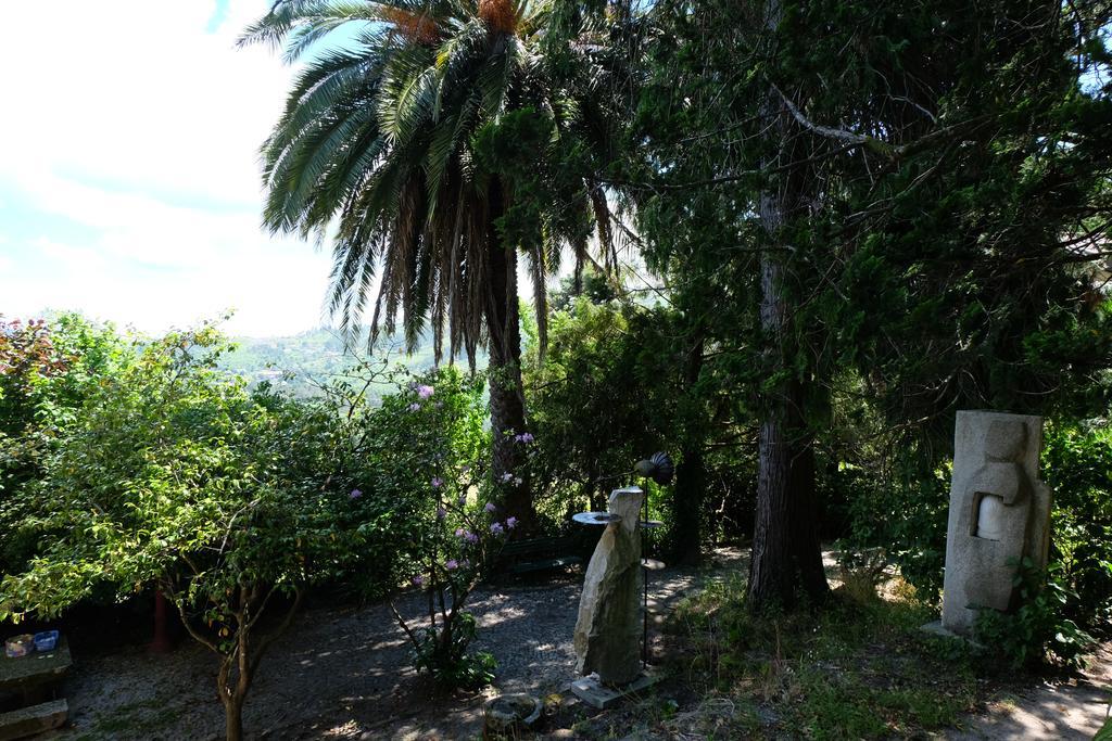
[[[897,590],[898,591],[898,590]],[[933,612],[909,595],[850,599],[822,610],[756,618],[741,579],[711,584],[676,610],[673,671],[706,702],[731,703],[747,737],[913,737],[952,725],[985,693],[960,641],[923,633]],[[688,732],[726,738],[698,729]],[[677,713],[683,718],[684,713]]]

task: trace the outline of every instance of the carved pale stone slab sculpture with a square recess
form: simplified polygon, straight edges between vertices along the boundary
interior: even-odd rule
[[[1050,488],[1039,481],[1042,418],[960,411],[946,530],[942,627],[967,635],[977,609],[1014,607],[1019,561],[1046,565]]]

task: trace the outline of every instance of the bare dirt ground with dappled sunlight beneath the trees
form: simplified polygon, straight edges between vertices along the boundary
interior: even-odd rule
[[[666,569],[649,581],[651,615],[669,608],[706,579],[743,570],[745,554],[716,552],[703,571]],[[408,644],[386,605],[309,609],[264,660],[244,711],[249,738],[475,739],[484,700],[503,692],[545,698],[574,677],[572,634],[580,577],[502,582],[470,602],[479,622],[475,648],[498,660],[495,683],[481,693],[433,699],[409,668]],[[419,595],[398,601],[403,614],[421,610]],[[657,625],[658,628],[658,625]],[[662,638],[651,630],[652,641]],[[972,715],[954,739],[1090,739],[1103,722],[1112,687],[1112,655],[1081,678],[1001,698]],[[183,641],[171,654],[142,648],[75,657],[62,687],[70,725],[56,739],[220,739],[224,710],[216,698],[216,659]],[[547,738],[576,738],[574,728]],[[684,738],[673,735],[671,738]],[[698,737],[691,737],[698,738]]]

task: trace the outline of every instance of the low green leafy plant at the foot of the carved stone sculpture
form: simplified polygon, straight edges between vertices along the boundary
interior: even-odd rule
[[[1014,584],[1019,607],[1013,612],[977,611],[973,631],[977,642],[999,650],[1016,669],[1044,661],[1083,667],[1096,641],[1063,614],[1078,594],[1066,585],[1061,565],[1051,564],[1042,572],[1024,557]]]

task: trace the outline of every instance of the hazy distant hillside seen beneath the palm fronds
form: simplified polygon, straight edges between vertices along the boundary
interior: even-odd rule
[[[354,351],[345,351],[340,334],[327,328],[291,337],[241,337],[236,338],[235,343],[236,349],[227,353],[220,363],[226,370],[244,375],[251,383],[270,381],[275,387],[298,395],[317,393],[317,384],[345,373],[355,366],[356,358],[366,357],[365,342],[358,342]],[[379,346],[374,354],[379,358],[389,356],[391,364],[407,366],[414,371],[426,370],[434,364],[431,337],[421,338],[413,356],[405,353],[400,338],[380,341]],[[356,354],[353,356],[353,352]],[[478,358],[477,364],[485,367],[486,358]]]

